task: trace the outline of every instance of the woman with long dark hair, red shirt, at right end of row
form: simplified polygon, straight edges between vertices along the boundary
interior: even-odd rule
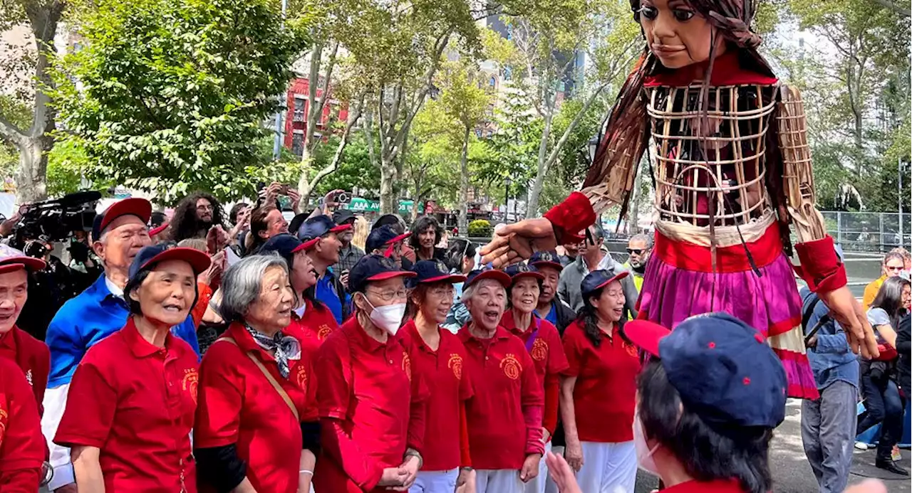
[[[621,334],[624,290],[620,280],[595,271],[582,282],[583,308],[564,332],[570,369],[562,384],[565,457],[583,491],[633,491],[633,443],[639,358]]]

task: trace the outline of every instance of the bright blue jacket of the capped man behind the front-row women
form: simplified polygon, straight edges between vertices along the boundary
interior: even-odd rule
[[[47,327],[45,342],[51,350],[48,388],[69,384],[88,348],[119,331],[127,324],[129,315],[127,303],[111,294],[103,273],[86,291],[64,303]],[[191,316],[183,324],[172,327],[171,334],[187,341],[200,354]]]

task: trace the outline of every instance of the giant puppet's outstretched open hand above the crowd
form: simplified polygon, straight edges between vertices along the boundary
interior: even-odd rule
[[[554,226],[544,218],[502,224],[494,229],[492,241],[482,247],[482,264],[491,262],[498,269],[556,247]]]

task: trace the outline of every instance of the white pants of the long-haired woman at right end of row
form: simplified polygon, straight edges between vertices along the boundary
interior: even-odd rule
[[[637,484],[637,449],[623,443],[583,442],[583,467],[576,482],[586,493],[634,493]]]

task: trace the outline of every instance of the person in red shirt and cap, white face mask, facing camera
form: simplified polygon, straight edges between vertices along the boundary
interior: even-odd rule
[[[366,255],[348,273],[355,314],[320,347],[320,493],[408,489],[422,464],[427,385],[397,336],[415,272]]]

